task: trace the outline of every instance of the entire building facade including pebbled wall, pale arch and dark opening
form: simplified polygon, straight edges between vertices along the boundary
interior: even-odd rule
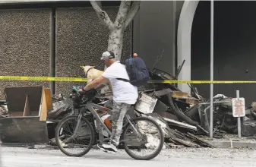
[[[214,2],[214,80],[255,80],[254,7],[256,2]],[[103,2],[115,18],[119,2]],[[79,77],[80,65],[103,68],[108,30],[100,24],[90,2],[14,3],[0,10],[0,75]],[[228,11],[227,11],[228,8]],[[210,79],[210,2],[142,1],[125,30],[122,55],[138,52],[147,66],[163,52],[157,68],[175,74],[185,60],[179,80]],[[1,81],[4,87],[44,85],[53,93],[71,91],[68,82]],[[186,84],[179,87],[189,92]],[[208,84],[196,85],[209,97]],[[246,106],[256,99],[254,84],[216,84],[214,94],[235,96],[240,90]]]

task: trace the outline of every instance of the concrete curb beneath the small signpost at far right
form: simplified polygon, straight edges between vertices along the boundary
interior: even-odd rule
[[[229,140],[229,141],[217,141],[212,140],[211,143],[214,147],[228,149],[228,148],[248,148],[256,149],[256,141],[238,141],[238,140]]]

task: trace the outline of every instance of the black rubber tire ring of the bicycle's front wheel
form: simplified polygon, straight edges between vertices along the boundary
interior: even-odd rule
[[[82,117],[81,120],[85,121],[86,124],[88,125],[89,129],[90,129],[91,137],[90,137],[90,143],[88,144],[88,147],[82,153],[77,153],[77,154],[68,153],[67,151],[64,150],[64,148],[62,147],[62,145],[60,144],[60,142],[58,140],[59,139],[58,138],[58,132],[60,131],[60,128],[62,128],[62,124],[64,124],[65,121],[68,121],[70,119],[77,118],[77,117],[78,117],[78,115],[69,115],[69,116],[63,118],[62,121],[60,121],[58,123],[58,125],[55,129],[55,140],[56,140],[56,144],[58,146],[58,149],[61,150],[62,153],[64,153],[67,156],[76,156],[76,157],[84,156],[93,147],[93,143],[94,143],[94,140],[95,140],[95,131],[93,130],[93,126],[90,124],[90,122],[86,118]]]

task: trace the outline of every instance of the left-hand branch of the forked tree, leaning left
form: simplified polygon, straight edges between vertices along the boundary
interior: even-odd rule
[[[112,30],[114,28],[114,24],[112,23],[112,20],[109,18],[109,15],[106,13],[106,11],[103,11],[100,8],[101,3],[90,0],[90,5],[93,6],[93,9],[96,11],[97,16],[100,18],[101,21],[103,21],[106,27],[109,27],[109,30]]]

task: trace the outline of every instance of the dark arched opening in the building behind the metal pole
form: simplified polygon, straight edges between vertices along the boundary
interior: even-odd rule
[[[213,80],[256,80],[256,2],[214,2]],[[191,33],[191,80],[210,80],[210,2],[199,2]],[[210,85],[196,85],[210,96]],[[255,84],[214,84],[214,95],[256,101]]]

